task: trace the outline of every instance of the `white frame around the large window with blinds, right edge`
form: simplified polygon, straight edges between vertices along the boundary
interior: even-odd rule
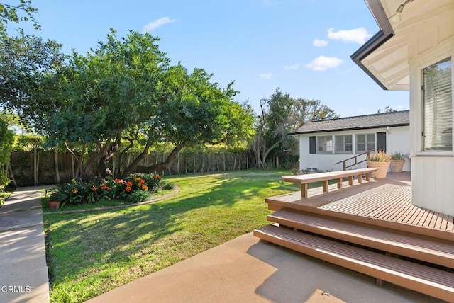
[[[423,69],[426,67],[431,66],[432,64],[436,64],[438,62],[441,62],[443,59],[446,59],[448,57],[451,57],[451,62],[453,62],[454,59],[454,49],[450,49],[448,51],[444,52],[438,52],[439,55],[431,56],[430,58],[424,57],[426,60],[417,60],[415,63],[417,63],[415,69],[413,70],[413,75],[414,75],[414,86],[411,90],[411,98],[414,98],[416,100],[416,103],[413,108],[410,108],[410,111],[413,110],[414,114],[411,116],[410,125],[414,125],[414,131],[412,134],[415,136],[414,144],[411,144],[413,152],[411,152],[411,155],[416,154],[416,156],[454,156],[454,147],[452,151],[425,151],[424,150],[424,139],[423,139],[423,90],[421,89],[423,86]],[[451,78],[451,86],[454,88],[454,72],[453,69],[451,68],[451,72],[453,73]],[[454,93],[453,93],[453,125],[454,125]],[[453,139],[454,139],[454,132],[453,132]],[[454,140],[453,140],[454,142]]]

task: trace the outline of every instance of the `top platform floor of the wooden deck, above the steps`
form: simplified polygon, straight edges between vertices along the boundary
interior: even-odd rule
[[[309,198],[304,200],[299,199],[298,193],[283,195],[282,199],[289,204],[295,203],[304,207],[316,207],[320,210],[454,232],[453,216],[446,216],[411,204],[409,173],[394,175],[391,173],[388,176],[389,178],[383,180],[371,179],[361,186],[357,183],[348,186],[348,181],[345,181],[346,186],[342,189],[338,189],[337,184],[333,184],[330,185],[333,188],[329,188],[329,193],[323,195],[321,195],[321,188],[313,188],[311,189],[313,193],[309,193]],[[273,199],[280,200],[279,197],[273,197]]]

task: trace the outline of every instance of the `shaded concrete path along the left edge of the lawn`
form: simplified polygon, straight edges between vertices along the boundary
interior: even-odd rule
[[[0,302],[49,302],[41,188],[18,188],[0,207]]]

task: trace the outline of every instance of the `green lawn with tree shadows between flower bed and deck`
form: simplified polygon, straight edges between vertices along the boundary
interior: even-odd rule
[[[44,215],[51,302],[83,302],[267,224],[265,197],[299,190],[289,171],[168,176],[167,200]]]

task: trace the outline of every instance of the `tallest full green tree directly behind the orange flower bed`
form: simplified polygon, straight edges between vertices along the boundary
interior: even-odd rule
[[[40,113],[43,130],[77,157],[82,177],[106,176],[122,137],[140,130],[155,112],[168,65],[157,41],[134,31],[117,39],[111,30],[96,50],[87,55],[74,52],[61,74],[45,77],[59,89],[48,95],[55,108]],[[79,144],[82,151],[77,154],[70,143]],[[96,151],[84,159],[89,144],[95,144]]]

